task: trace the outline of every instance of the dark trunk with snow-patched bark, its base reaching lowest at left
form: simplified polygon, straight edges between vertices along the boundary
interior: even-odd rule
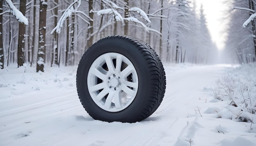
[[[44,2],[40,0],[40,14],[39,14],[39,46],[36,63],[36,72],[44,71],[45,64],[45,32],[46,32],[46,9],[47,0]]]

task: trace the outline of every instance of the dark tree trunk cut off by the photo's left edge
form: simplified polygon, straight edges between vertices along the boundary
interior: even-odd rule
[[[3,1],[0,0],[0,13],[3,12]],[[3,15],[0,15],[0,69],[4,69],[4,49],[3,49]]]

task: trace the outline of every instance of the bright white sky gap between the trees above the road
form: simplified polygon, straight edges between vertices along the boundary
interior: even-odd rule
[[[225,27],[222,21],[224,11],[227,8],[223,4],[223,0],[195,0],[197,4],[197,11],[203,4],[204,14],[206,15],[207,25],[211,33],[211,38],[213,42],[216,43],[219,49],[224,47],[224,35]]]

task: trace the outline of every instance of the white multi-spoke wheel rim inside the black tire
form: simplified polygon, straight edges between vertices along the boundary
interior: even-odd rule
[[[127,108],[138,91],[138,75],[132,62],[119,53],[99,56],[90,66],[87,86],[92,100],[103,110]]]

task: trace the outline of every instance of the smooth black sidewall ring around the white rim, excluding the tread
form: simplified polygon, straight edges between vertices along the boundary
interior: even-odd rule
[[[148,64],[140,49],[144,46],[129,40],[117,38],[103,39],[92,45],[83,55],[77,70],[77,91],[85,110],[94,118],[113,122],[137,122],[143,119],[141,113],[147,106],[150,96],[150,73]],[[92,100],[87,86],[87,77],[90,66],[105,53],[119,53],[130,60],[137,71],[139,86],[137,95],[132,103],[122,111],[108,112],[97,106]]]

